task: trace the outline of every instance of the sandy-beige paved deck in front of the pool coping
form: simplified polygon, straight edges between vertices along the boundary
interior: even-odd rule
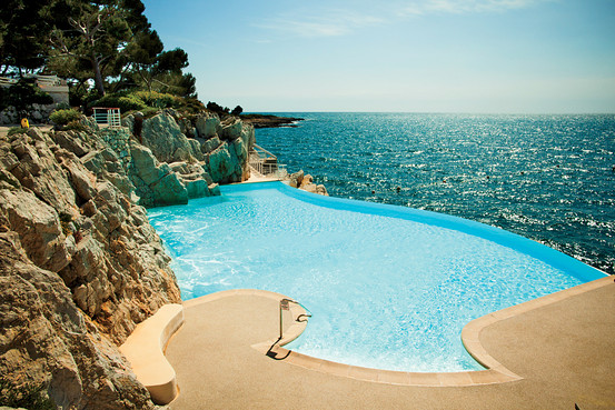
[[[173,410],[190,409],[615,409],[615,283],[488,324],[483,347],[519,381],[396,386],[274,360],[251,346],[276,339],[278,303],[258,294],[185,303],[167,358]],[[309,324],[308,324],[309,326]]]

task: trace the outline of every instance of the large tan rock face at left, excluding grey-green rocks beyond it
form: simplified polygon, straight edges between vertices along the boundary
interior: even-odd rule
[[[133,190],[95,134],[0,140],[0,378],[16,389],[62,408],[153,406],[117,346],[180,298]]]

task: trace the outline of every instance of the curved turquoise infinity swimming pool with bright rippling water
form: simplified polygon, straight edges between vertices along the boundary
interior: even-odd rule
[[[280,182],[221,191],[148,212],[182,298],[238,288],[287,294],[314,313],[287,348],[320,359],[386,370],[480,370],[462,344],[465,324],[605,276],[455,217]]]

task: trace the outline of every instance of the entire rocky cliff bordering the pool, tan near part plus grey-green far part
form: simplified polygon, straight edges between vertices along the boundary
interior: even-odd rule
[[[2,398],[41,389],[63,409],[155,407],[117,348],[180,301],[142,206],[246,179],[254,128],[173,112],[126,124],[0,139]]]

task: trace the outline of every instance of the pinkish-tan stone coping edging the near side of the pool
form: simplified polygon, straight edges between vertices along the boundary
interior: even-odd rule
[[[602,288],[608,283],[612,283],[613,279],[614,278],[612,276],[596,279],[591,282],[582,283],[569,289],[485,314],[484,317],[467,323],[462,330],[463,344],[468,353],[486,368],[485,370],[460,372],[405,372],[371,369],[318,359],[284,348],[285,344],[288,344],[301,334],[301,332],[306,329],[308,321],[295,321],[285,330],[281,341],[279,339],[269,339],[251,344],[251,348],[262,354],[267,354],[274,360],[284,361],[304,369],[385,384],[414,387],[470,387],[515,382],[520,381],[524,378],[506,368],[487,352],[479,340],[480,332],[488,326],[492,326],[498,321],[507,320],[534,309],[543,308],[567,298]],[[257,296],[275,300],[287,298],[281,293],[266,290],[231,289],[185,301],[183,306],[189,308],[191,306],[207,303],[234,296]],[[294,318],[305,313],[306,311],[300,306],[291,304],[290,314]]]

